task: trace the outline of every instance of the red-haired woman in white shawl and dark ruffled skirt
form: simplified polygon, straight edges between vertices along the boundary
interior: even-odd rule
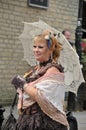
[[[19,93],[19,118],[15,130],[67,130],[63,111],[64,74],[57,64],[61,45],[49,30],[34,38],[33,52],[39,62],[12,84]]]

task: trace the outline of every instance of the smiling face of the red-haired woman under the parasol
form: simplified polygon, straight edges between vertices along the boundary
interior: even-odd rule
[[[49,60],[50,50],[47,47],[46,42],[35,42],[33,46],[33,52],[37,61],[45,62]]]

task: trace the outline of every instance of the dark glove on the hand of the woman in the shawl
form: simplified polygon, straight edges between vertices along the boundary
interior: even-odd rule
[[[24,84],[26,83],[26,80],[21,76],[15,76],[11,83],[14,85],[16,89],[21,88],[23,89]]]

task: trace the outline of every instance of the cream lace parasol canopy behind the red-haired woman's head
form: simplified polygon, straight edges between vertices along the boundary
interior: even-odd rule
[[[65,36],[42,20],[33,23],[23,23],[24,30],[19,36],[19,39],[24,49],[24,60],[31,66],[36,65],[36,60],[32,51],[34,37],[41,34],[45,29],[50,29],[56,34],[58,41],[63,47],[58,59],[58,64],[61,64],[64,68],[66,91],[71,91],[76,94],[78,87],[84,82],[84,78],[80,67],[79,56],[71,47]]]

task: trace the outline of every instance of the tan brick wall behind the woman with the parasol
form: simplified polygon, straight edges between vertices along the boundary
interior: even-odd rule
[[[59,31],[68,28],[74,39],[78,0],[50,0],[48,9],[27,5],[27,0],[0,0],[0,104],[9,104],[15,90],[10,83],[16,74],[28,70],[18,36],[23,23],[44,20]]]

